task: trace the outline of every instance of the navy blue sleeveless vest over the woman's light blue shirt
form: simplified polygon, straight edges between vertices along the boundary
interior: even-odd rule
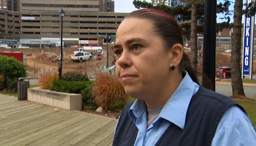
[[[113,146],[133,146],[138,129],[128,115],[134,101],[123,109],[118,121]],[[182,130],[171,123],[156,145],[159,146],[210,146],[217,126],[225,111],[236,105],[245,110],[230,97],[218,94],[200,86],[192,97]]]

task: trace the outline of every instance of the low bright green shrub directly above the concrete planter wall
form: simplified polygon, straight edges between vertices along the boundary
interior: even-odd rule
[[[66,92],[66,93],[75,93],[80,94],[81,90],[84,90],[93,81],[64,81],[64,80],[55,80],[53,86],[50,90],[56,92]]]

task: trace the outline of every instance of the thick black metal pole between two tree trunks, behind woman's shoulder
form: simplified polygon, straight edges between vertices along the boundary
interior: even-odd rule
[[[216,13],[217,0],[205,0],[202,86],[207,87],[209,84],[212,84],[213,91],[215,91]],[[210,79],[210,83],[207,81],[207,78]]]

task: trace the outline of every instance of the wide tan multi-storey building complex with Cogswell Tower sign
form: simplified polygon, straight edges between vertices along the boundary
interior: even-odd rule
[[[63,9],[65,44],[102,43],[102,35],[115,35],[127,13],[115,13],[112,0],[0,0],[0,39],[38,46],[40,40],[59,40]],[[113,38],[114,41],[114,38]],[[47,42],[47,41],[43,41]],[[49,42],[49,41],[48,41]],[[49,44],[48,44],[49,45]]]

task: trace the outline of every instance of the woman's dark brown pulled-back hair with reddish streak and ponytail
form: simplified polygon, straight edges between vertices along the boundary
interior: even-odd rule
[[[170,49],[175,44],[183,47],[183,36],[178,22],[168,13],[157,9],[140,9],[129,13],[126,18],[141,18],[152,21],[154,31],[163,39],[164,45]],[[180,63],[181,70],[188,72],[192,80],[198,83],[195,71],[191,67],[190,59],[183,53]]]

